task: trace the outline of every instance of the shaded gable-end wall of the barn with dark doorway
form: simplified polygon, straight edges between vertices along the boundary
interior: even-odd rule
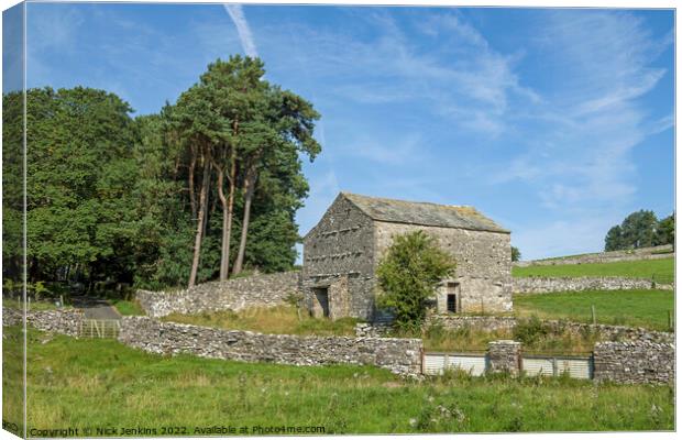
[[[304,239],[301,285],[314,316],[322,309],[316,288],[327,289],[330,318],[371,319],[374,310],[372,220],[343,197],[337,198]],[[317,290],[323,295],[323,290]]]

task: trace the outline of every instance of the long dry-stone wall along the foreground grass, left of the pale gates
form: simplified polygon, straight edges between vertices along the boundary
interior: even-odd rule
[[[262,334],[124,317],[119,341],[160,354],[290,365],[376,365],[396,374],[417,374],[421,369],[420,339]]]

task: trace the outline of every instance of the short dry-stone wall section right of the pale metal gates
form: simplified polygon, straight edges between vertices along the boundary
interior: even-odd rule
[[[600,342],[594,380],[625,384],[669,384],[675,377],[675,346],[653,342]]]

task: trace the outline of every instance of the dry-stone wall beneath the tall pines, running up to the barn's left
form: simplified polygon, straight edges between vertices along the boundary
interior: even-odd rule
[[[138,290],[136,298],[147,316],[193,315],[205,311],[278,306],[299,292],[300,273],[260,274],[226,282],[199,284],[180,292]]]

